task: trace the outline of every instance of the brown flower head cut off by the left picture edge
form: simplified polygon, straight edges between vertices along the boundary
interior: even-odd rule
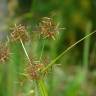
[[[0,62],[4,63],[9,58],[9,48],[7,45],[0,43]]]

